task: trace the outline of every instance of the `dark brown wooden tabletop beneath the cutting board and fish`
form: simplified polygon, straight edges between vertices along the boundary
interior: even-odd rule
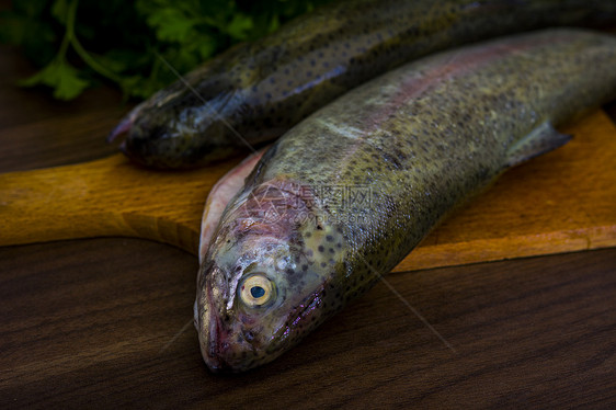
[[[1,172],[115,152],[116,92],[60,103],[13,87],[32,72],[15,52],[0,61]],[[0,408],[616,406],[616,249],[390,274],[456,353],[378,284],[236,376],[201,358],[196,271],[137,239],[0,248]]]

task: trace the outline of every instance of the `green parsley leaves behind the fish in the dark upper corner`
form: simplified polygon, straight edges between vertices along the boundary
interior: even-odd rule
[[[28,0],[0,13],[0,42],[42,67],[21,86],[72,100],[100,82],[139,99],[242,41],[329,0]]]

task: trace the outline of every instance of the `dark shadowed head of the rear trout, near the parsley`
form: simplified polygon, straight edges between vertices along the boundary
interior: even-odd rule
[[[228,116],[232,93],[215,87],[216,78],[193,87],[189,82],[193,77],[137,105],[112,130],[107,141],[123,135],[119,149],[128,158],[159,169],[194,168],[243,148]]]

